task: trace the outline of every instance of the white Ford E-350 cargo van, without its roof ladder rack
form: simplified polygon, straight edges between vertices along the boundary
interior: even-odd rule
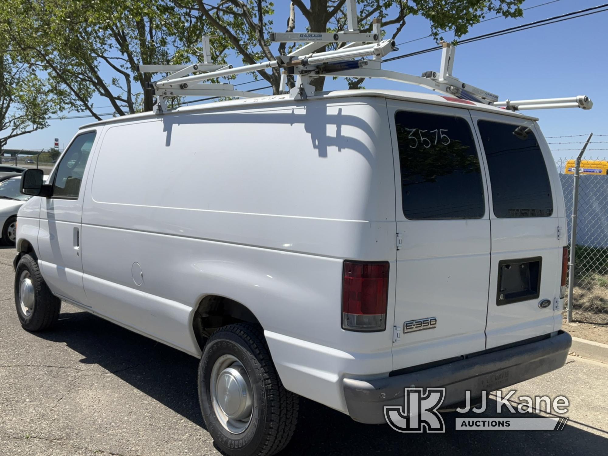
[[[406,387],[446,388],[447,409],[571,344],[561,185],[516,112],[401,91],[218,102],[85,125],[46,184],[22,182],[21,325],[65,301],[201,358],[228,454],[285,447],[298,396],[384,423]]]

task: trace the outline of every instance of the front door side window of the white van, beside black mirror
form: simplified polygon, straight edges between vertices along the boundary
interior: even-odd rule
[[[55,173],[54,198],[78,199],[82,176],[85,174],[86,162],[91,153],[95,134],[95,131],[80,134],[67,148]]]

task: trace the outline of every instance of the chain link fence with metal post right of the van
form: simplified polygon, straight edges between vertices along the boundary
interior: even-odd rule
[[[556,167],[564,190],[570,243],[575,157],[559,159]],[[585,156],[579,176],[573,308],[595,314],[608,314],[607,170],[606,157]]]

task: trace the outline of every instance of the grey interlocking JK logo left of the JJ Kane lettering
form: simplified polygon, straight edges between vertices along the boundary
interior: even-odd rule
[[[446,432],[437,412],[445,396],[445,388],[406,388],[404,406],[385,406],[384,418],[398,432]]]

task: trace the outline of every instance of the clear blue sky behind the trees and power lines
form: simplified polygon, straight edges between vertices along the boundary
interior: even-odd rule
[[[539,5],[550,0],[527,0],[522,7]],[[285,4],[283,6],[283,4]],[[601,0],[559,0],[524,12],[523,18],[497,18],[478,24],[467,36],[477,36],[494,30],[513,27],[518,24],[545,19],[575,10],[601,4]],[[283,12],[285,9],[285,12]],[[275,1],[275,24],[277,31],[283,31],[284,20],[288,14],[288,1]],[[488,16],[491,17],[491,16]],[[280,26],[279,26],[280,24]],[[305,21],[301,16],[296,17],[296,30],[303,30]],[[608,84],[601,79],[608,73],[608,58],[604,34],[608,26],[608,12],[586,16],[580,19],[551,24],[536,29],[526,30],[510,35],[499,36],[475,43],[458,46],[455,55],[454,76],[466,83],[494,92],[500,100],[525,98],[569,97],[574,95],[589,95],[593,100],[593,109],[545,109],[527,111],[526,114],[539,117],[545,136],[564,136],[574,134],[608,135]],[[420,16],[410,16],[407,25],[396,38],[397,43],[413,40],[429,34],[429,23]],[[390,32],[390,30],[389,30]],[[451,33],[444,35],[451,40]],[[464,37],[463,37],[464,38]],[[393,55],[406,54],[434,46],[432,38],[415,41],[399,46],[399,51]],[[389,57],[392,57],[389,55]],[[420,75],[423,71],[437,70],[441,52],[429,52],[416,57],[404,58],[384,64],[385,69]],[[240,64],[235,58],[234,63]],[[241,75],[237,82],[251,80],[250,75]],[[266,85],[265,81],[244,86],[256,88]],[[384,80],[366,80],[366,88],[401,89],[409,91],[425,91],[417,86],[403,85]],[[333,81],[328,78],[326,89],[345,88],[344,80]],[[104,98],[95,98],[95,105],[108,106]],[[111,108],[100,109],[110,112]],[[75,116],[77,113],[65,113]],[[52,141],[59,137],[60,145],[67,144],[78,130],[78,126],[92,122],[94,119],[65,119],[51,120],[50,127],[10,140],[7,148],[41,149],[52,147]],[[553,139],[550,142],[576,142],[584,137]],[[608,136],[596,137],[596,141],[605,140],[607,143],[596,143],[589,149],[586,156],[608,156]],[[558,149],[579,148],[575,144],[551,145],[553,155],[572,157],[576,151],[559,151]]]

